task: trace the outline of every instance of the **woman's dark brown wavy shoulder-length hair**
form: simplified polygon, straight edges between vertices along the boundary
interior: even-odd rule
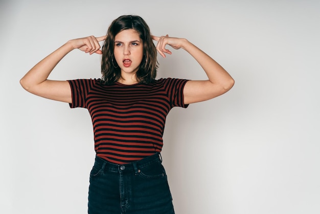
[[[140,16],[122,15],[113,20],[109,26],[107,38],[102,47],[101,79],[104,84],[112,84],[121,78],[121,70],[113,54],[115,37],[119,32],[128,29],[135,30],[143,41],[144,56],[140,63],[140,68],[136,72],[136,80],[138,82],[149,83],[156,77],[158,68],[157,53],[151,38],[149,26]]]

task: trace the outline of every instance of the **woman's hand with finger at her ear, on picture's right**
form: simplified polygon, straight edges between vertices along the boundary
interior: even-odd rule
[[[153,40],[157,41],[156,50],[166,58],[166,54],[172,54],[172,52],[166,49],[166,45],[171,46],[174,49],[182,48],[183,40],[182,38],[169,37],[168,34],[166,36],[151,36]]]

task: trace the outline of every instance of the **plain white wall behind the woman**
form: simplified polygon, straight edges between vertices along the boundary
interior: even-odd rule
[[[24,91],[19,79],[69,39],[105,35],[123,14],[185,37],[235,79],[215,99],[174,108],[163,159],[176,213],[320,213],[319,1],[1,1],[0,212],[86,213],[94,162],[85,109]],[[205,79],[184,50],[157,78]],[[51,79],[99,78],[75,50]]]

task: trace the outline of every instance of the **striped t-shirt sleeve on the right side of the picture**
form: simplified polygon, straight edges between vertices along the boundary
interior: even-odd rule
[[[168,93],[171,108],[175,106],[187,108],[189,106],[189,104],[184,103],[184,87],[188,81],[188,79],[165,79],[165,88]]]

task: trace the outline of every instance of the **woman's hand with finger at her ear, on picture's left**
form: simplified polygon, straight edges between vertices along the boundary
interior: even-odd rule
[[[72,39],[68,41],[68,43],[72,45],[74,49],[79,49],[85,53],[89,53],[90,55],[93,53],[102,54],[99,42],[105,40],[106,38],[106,35],[100,37],[88,36],[84,38]]]

